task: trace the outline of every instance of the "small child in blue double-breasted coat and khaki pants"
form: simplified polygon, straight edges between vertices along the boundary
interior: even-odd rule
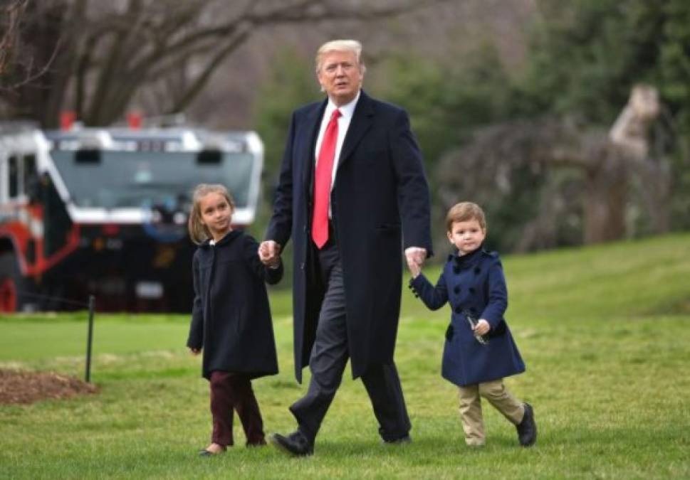
[[[501,260],[481,247],[486,218],[475,203],[458,203],[446,215],[446,228],[457,255],[449,255],[436,287],[419,265],[409,262],[409,285],[429,309],[451,305],[441,375],[459,387],[465,442],[484,444],[483,397],[516,425],[520,444],[528,447],[537,436],[532,407],[503,385],[503,377],[522,373],[525,364],[503,319],[508,290]]]

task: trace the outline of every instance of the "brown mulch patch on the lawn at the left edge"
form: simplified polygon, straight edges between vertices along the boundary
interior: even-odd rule
[[[0,369],[0,403],[33,403],[96,392],[95,385],[58,373]]]

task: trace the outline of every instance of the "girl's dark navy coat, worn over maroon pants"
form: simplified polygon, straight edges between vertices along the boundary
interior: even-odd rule
[[[283,265],[273,270],[258,258],[258,243],[232,230],[210,245],[199,245],[192,260],[194,307],[189,348],[203,348],[204,378],[211,371],[246,373],[251,378],[278,373],[276,341],[266,285],[278,283]]]

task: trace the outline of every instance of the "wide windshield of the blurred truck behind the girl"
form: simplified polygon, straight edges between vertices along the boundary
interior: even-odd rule
[[[197,161],[194,152],[100,151],[78,161],[75,151],[51,153],[76,206],[130,208],[191,201],[198,183],[222,183],[238,208],[247,206],[253,155],[225,153]]]

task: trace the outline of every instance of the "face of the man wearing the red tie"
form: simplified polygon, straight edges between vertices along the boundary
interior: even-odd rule
[[[340,106],[355,100],[364,74],[354,52],[333,51],[323,54],[316,77],[328,97]]]

